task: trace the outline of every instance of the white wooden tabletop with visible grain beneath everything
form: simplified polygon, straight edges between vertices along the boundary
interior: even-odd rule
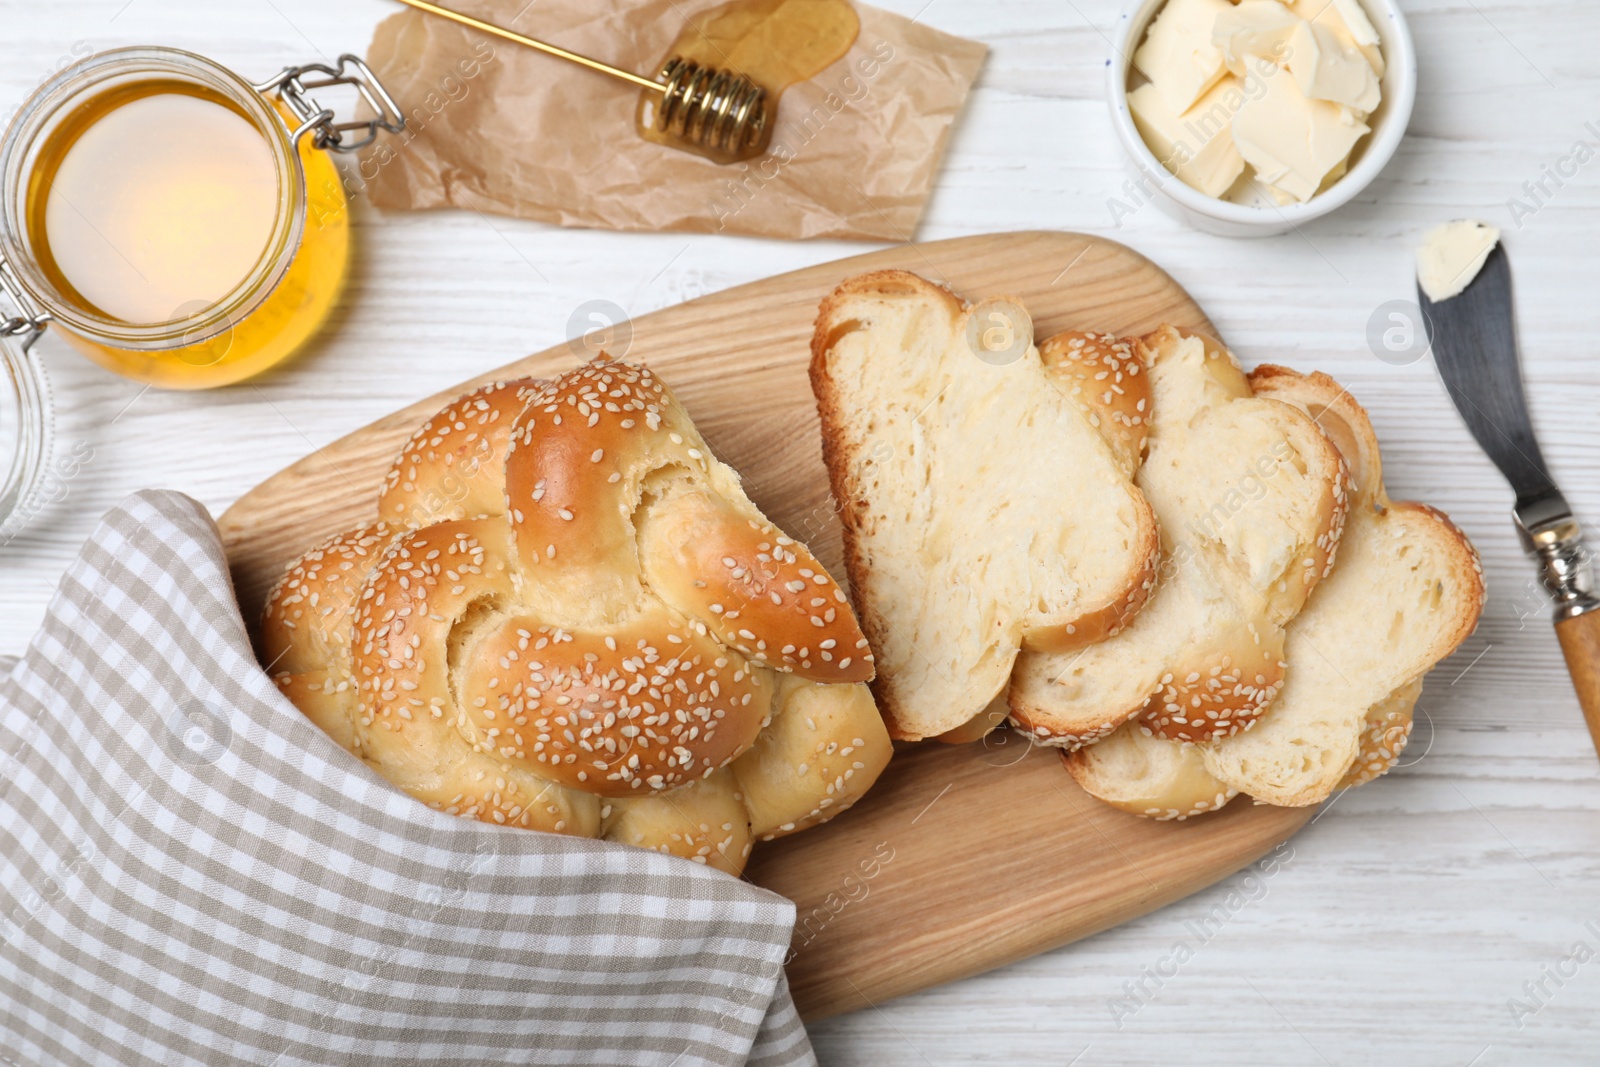
[[[1384,442],[1390,491],[1466,528],[1490,601],[1477,635],[1432,675],[1406,766],[1331,806],[1275,873],[819,1024],[822,1062],[1600,1062],[1600,763],[1528,590],[1509,490],[1429,362],[1392,366],[1365,339],[1376,307],[1411,296],[1422,229],[1459,216],[1507,229],[1534,422],[1568,496],[1600,528],[1600,162],[1558,189],[1547,182],[1554,195],[1522,229],[1507,210],[1574,141],[1600,141],[1600,6],[1410,0],[1421,91],[1395,162],[1302,235],[1237,242],[1189,232],[1154,206],[1114,227],[1107,200],[1125,174],[1101,78],[1117,0],[923,3],[888,0],[994,51],[918,237],[1059,227],[1149,254],[1248,363],[1318,368],[1352,389]],[[266,77],[360,53],[389,10],[381,0],[3,0],[0,102],[10,112],[58,58],[134,43]],[[379,216],[363,203],[355,221],[360,266],[333,328],[258,384],[142,392],[43,342],[59,446],[93,456],[0,552],[0,651],[21,651],[96,517],[133,490],[181,490],[221,514],[314,446],[563,341],[584,301],[643,314],[866,251]],[[1203,939],[1190,923],[1219,905],[1229,918]],[[1194,958],[1174,968],[1178,942]]]

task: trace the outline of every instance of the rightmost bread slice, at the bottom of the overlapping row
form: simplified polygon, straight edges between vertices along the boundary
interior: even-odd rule
[[[1483,608],[1470,542],[1440,512],[1389,499],[1371,422],[1347,390],[1280,366],[1250,379],[1338,445],[1354,478],[1350,515],[1333,571],[1290,624],[1283,689],[1254,728],[1184,745],[1130,723],[1064,755],[1085,790],[1136,814],[1186,817],[1237,793],[1304,806],[1370,782],[1403,750],[1422,677]]]

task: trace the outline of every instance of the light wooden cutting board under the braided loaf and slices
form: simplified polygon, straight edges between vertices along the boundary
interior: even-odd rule
[[[613,355],[650,363],[755,502],[843,574],[806,381],[818,301],[840,280],[901,267],[976,299],[1010,294],[1035,334],[1211,330],[1138,253],[1080,234],[992,234],[797,270],[704,296],[613,331]],[[274,475],[222,515],[246,619],[312,544],[376,515],[400,445],[450,398],[498,378],[555,374],[560,346],[421,400]],[[973,745],[901,745],[872,792],[826,827],[758,845],[747,877],[798,905],[789,982],[819,1019],[976,974],[1115,926],[1256,861],[1310,809],[1237,801],[1149,822],[1083,793],[1053,752],[1008,733]]]

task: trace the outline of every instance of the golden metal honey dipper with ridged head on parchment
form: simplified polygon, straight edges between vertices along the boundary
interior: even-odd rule
[[[618,70],[598,59],[579,56],[574,51],[566,51],[542,40],[514,34],[493,22],[475,19],[470,14],[442,8],[427,0],[400,0],[400,3],[518,45],[526,45],[528,48],[536,48],[547,56],[608,74],[645,91],[659,93],[661,101],[654,109],[654,128],[666,134],[669,142],[678,141],[683,146],[694,146],[696,149],[733,158],[760,155],[766,147],[766,90],[742,74],[718,70],[691,59],[683,59],[682,56],[674,56],[662,64],[661,72],[651,80],[629,70]]]

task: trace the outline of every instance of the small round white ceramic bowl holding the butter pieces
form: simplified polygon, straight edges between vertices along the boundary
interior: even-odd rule
[[[1386,69],[1381,86],[1384,99],[1366,120],[1373,131],[1355,146],[1355,152],[1350,155],[1350,170],[1344,178],[1306,203],[1291,203],[1283,208],[1254,208],[1218,200],[1178,181],[1144,144],[1144,138],[1139,136],[1139,130],[1133,125],[1133,115],[1128,112],[1128,67],[1133,53],[1144,42],[1146,27],[1163,3],[1165,0],[1139,0],[1122,13],[1112,34],[1110,61],[1106,64],[1106,99],[1110,104],[1117,136],[1133,165],[1136,182],[1147,189],[1150,198],[1168,214],[1197,230],[1224,237],[1285,234],[1354,200],[1400,147],[1400,138],[1405,136],[1406,123],[1411,122],[1411,106],[1416,102],[1416,50],[1411,45],[1411,30],[1406,29],[1405,16],[1395,0],[1360,0],[1373,21],[1373,29],[1382,38]]]

